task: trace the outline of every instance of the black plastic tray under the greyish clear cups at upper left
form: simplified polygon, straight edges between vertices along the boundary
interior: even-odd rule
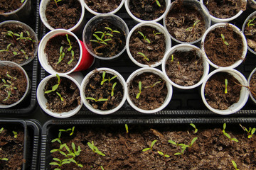
[[[26,21],[21,21],[23,23],[26,23],[28,26],[30,26],[38,35],[38,29],[39,29],[39,0],[33,0],[31,1],[32,7],[31,7],[31,14],[26,19]],[[0,21],[4,21],[5,18],[1,17]],[[33,111],[33,109],[36,108],[37,102],[36,102],[36,86],[38,83],[38,59],[35,57],[30,63],[23,66],[23,69],[26,70],[29,79],[31,80],[31,92],[28,95],[28,97],[18,104],[18,106],[14,106],[12,108],[1,108],[0,109],[0,115],[28,115]]]

